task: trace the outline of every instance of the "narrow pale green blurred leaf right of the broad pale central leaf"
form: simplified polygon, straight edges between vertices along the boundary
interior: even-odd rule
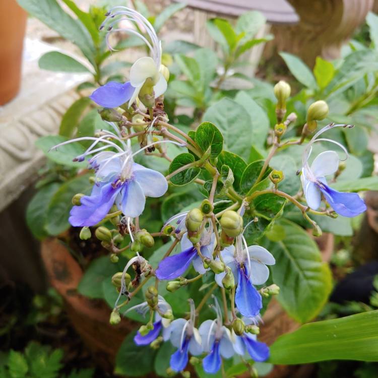
[[[246,92],[240,91],[235,101],[248,112],[251,123],[251,141],[254,146],[263,147],[270,128],[266,112]]]

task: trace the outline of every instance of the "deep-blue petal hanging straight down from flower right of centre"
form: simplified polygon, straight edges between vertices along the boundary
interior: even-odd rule
[[[263,307],[261,295],[251,283],[245,266],[243,269],[239,268],[235,303],[240,313],[247,318],[256,317]]]

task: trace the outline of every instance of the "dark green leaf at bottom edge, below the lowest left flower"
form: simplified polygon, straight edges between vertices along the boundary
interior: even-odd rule
[[[147,346],[137,346],[134,342],[136,331],[124,340],[115,359],[114,372],[120,375],[140,376],[153,370],[155,350]]]

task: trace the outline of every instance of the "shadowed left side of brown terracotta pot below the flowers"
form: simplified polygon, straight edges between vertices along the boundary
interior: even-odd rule
[[[51,285],[64,298],[65,309],[75,330],[98,365],[111,372],[124,337],[138,324],[122,319],[117,326],[111,326],[111,310],[105,301],[89,299],[77,292],[83,271],[66,246],[57,239],[43,241],[41,255]]]

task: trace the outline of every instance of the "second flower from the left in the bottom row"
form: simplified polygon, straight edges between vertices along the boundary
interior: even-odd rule
[[[197,356],[203,351],[200,333],[194,327],[196,310],[193,300],[190,303],[190,319],[176,319],[170,326],[170,341],[177,348],[170,358],[170,367],[174,371],[182,371],[185,368],[188,361],[188,352]]]

